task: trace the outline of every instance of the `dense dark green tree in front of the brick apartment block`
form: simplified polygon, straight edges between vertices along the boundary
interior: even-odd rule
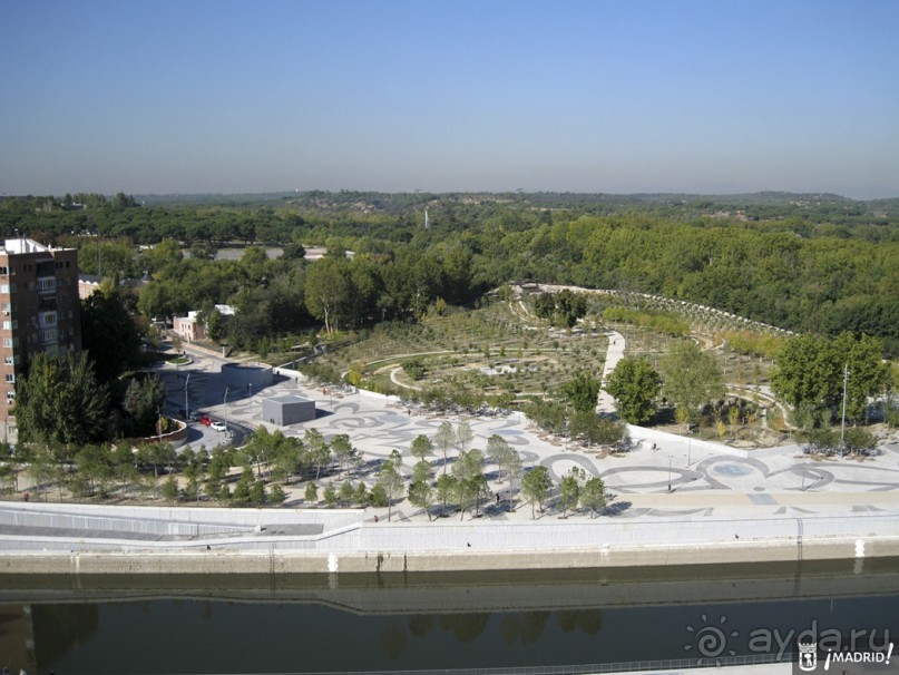
[[[13,414],[20,442],[84,446],[106,430],[109,393],[87,354],[39,352],[17,384]]]

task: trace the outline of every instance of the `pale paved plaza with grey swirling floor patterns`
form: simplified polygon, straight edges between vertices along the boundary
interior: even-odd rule
[[[416,459],[411,456],[412,440],[424,434],[433,437],[443,421],[467,422],[473,434],[471,447],[485,448],[492,434],[502,437],[516,448],[525,468],[545,466],[554,480],[573,467],[588,475],[600,476],[614,495],[609,512],[616,518],[770,518],[814,517],[823,515],[858,516],[860,513],[899,512],[899,443],[893,436],[880,446],[880,453],[864,458],[834,458],[815,461],[802,454],[799,446],[766,450],[736,450],[723,444],[700,441],[652,429],[631,427],[633,448],[620,453],[607,453],[600,448],[568,443],[544,433],[527,418],[511,413],[505,417],[440,415],[408,409],[400,401],[365,391],[313,387],[295,371],[276,369],[273,384],[256,391],[226,393],[221,378],[224,359],[204,351],[186,348],[194,362],[187,366],[164,365],[160,369],[168,391],[169,408],[184,408],[185,375],[190,373],[190,407],[216,419],[226,420],[229,428],[255,429],[265,424],[270,431],[280,429],[285,436],[302,437],[305,429],[319,429],[325,438],[349,434],[360,451],[364,467],[351,477],[371,487],[375,481],[379,460],[397,449],[403,457],[404,472],[411,473]],[[614,368],[624,353],[620,335],[609,336],[606,370]],[[287,394],[315,401],[314,421],[277,427],[262,417],[262,401]],[[602,398],[600,409],[608,410],[610,401]],[[188,442],[207,449],[225,441],[225,434],[193,422]],[[240,439],[237,439],[240,440]],[[450,461],[452,460],[452,453]],[[434,473],[442,471],[441,457],[431,458]],[[497,467],[486,467],[490,488],[505,499],[506,485],[497,482]],[[334,479],[333,476],[325,480]],[[302,506],[303,485],[287,489],[286,506]],[[505,503],[505,502],[504,502]],[[488,518],[530,519],[530,508],[509,512],[494,503]],[[387,509],[367,510],[367,520],[387,517]],[[549,511],[543,518],[556,518]],[[468,518],[468,517],[466,517]],[[587,515],[576,515],[571,521],[583,521]],[[427,515],[401,501],[393,508],[393,521],[427,520]]]

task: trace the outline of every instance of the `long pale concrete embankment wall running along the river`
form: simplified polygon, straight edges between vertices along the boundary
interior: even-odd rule
[[[899,556],[899,519],[363,522],[361,511],[0,506],[0,574],[589,569]]]

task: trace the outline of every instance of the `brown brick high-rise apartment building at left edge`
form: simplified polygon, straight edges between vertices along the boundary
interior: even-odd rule
[[[0,423],[13,422],[16,381],[35,354],[81,351],[78,251],[32,239],[0,250]]]

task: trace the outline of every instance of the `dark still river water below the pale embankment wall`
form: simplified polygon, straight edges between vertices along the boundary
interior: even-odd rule
[[[4,595],[31,593],[30,665],[58,675],[557,666],[792,652],[802,630],[819,639],[874,632],[874,646],[885,630],[899,636],[892,562],[801,577],[756,567],[505,581],[304,578],[280,587],[245,578],[222,586],[227,579],[169,589],[168,579],[141,588],[153,583],[67,588],[70,579],[48,579]],[[116,584],[118,597],[144,597],[113,599]]]

